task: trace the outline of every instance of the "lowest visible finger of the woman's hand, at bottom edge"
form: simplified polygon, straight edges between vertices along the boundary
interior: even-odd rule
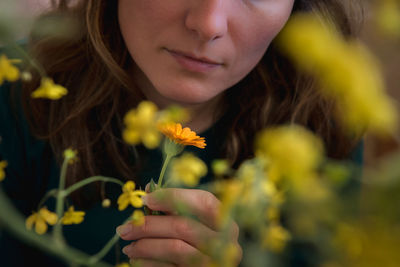
[[[129,258],[150,259],[178,266],[204,266],[210,258],[180,239],[144,238],[122,249]]]

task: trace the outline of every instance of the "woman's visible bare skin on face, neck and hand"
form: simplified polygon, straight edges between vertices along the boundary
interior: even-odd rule
[[[260,61],[288,20],[293,3],[294,0],[119,0],[121,33],[136,63],[132,78],[160,108],[179,104],[192,111],[187,126],[201,132],[211,126],[222,93]],[[177,61],[176,53],[178,58],[183,53],[214,63],[205,70],[193,70]],[[123,252],[131,259],[140,259],[142,266],[194,266],[190,261],[193,256],[199,266],[204,266],[209,256],[201,244],[219,236],[215,224],[219,200],[202,190],[159,191],[169,194],[168,201],[160,201],[151,193],[146,205],[167,215],[146,216],[144,226],[119,227],[117,232],[122,239],[137,240]],[[188,205],[199,219],[179,216],[171,204],[177,200]],[[232,222],[232,243],[241,251],[238,233]],[[240,259],[241,255],[238,263]]]

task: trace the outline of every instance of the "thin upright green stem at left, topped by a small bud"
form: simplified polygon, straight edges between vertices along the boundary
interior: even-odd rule
[[[65,158],[63,165],[61,167],[60,183],[58,184],[58,193],[57,193],[57,201],[56,201],[56,214],[58,217],[58,222],[56,225],[54,225],[54,228],[53,228],[53,237],[60,246],[65,245],[64,236],[62,234],[61,217],[62,217],[63,211],[64,211],[64,195],[62,192],[65,188],[65,179],[67,176],[68,161],[69,161],[69,159]]]

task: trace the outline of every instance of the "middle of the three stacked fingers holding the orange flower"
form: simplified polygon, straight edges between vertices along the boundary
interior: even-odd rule
[[[197,249],[201,249],[210,240],[219,238],[219,233],[191,218],[182,216],[146,216],[144,224],[134,226],[128,222],[117,227],[124,240],[142,238],[181,239]]]

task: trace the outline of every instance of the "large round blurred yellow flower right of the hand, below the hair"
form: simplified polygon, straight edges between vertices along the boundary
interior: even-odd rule
[[[256,155],[267,159],[268,178],[304,179],[312,174],[323,157],[320,139],[301,126],[265,129],[256,137]]]

